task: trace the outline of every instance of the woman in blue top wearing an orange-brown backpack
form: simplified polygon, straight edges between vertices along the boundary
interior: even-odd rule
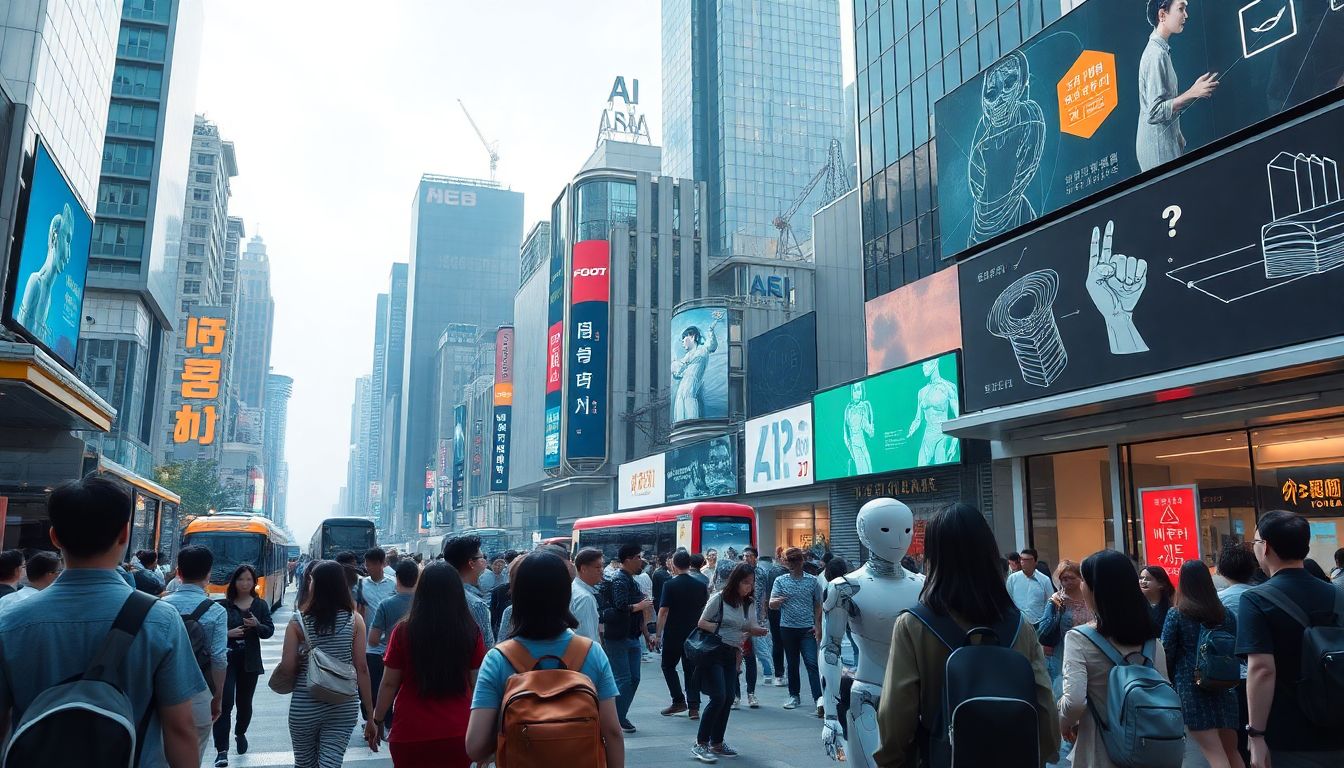
[[[536,724],[548,732],[546,755],[532,753],[536,761],[526,765],[540,760],[554,765],[593,765],[594,755],[605,751],[605,761],[597,765],[624,767],[616,677],[602,646],[574,633],[578,620],[570,613],[571,581],[564,560],[552,551],[532,551],[513,561],[509,584],[511,635],[481,660],[466,722],[468,756],[487,763],[495,755],[499,768],[513,768],[519,763],[512,756],[530,757],[523,732]],[[564,693],[546,702],[530,697],[521,689],[531,687],[534,679]],[[505,693],[513,695],[505,701]]]

